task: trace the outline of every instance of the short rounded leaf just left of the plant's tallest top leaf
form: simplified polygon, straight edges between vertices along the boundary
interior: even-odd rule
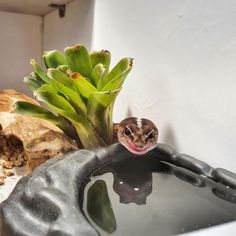
[[[58,50],[44,52],[43,60],[46,68],[57,68],[59,65],[67,64],[65,56]]]

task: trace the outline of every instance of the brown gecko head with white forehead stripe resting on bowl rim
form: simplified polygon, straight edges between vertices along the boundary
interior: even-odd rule
[[[130,152],[144,155],[156,147],[158,129],[148,119],[129,117],[120,122],[117,137]]]

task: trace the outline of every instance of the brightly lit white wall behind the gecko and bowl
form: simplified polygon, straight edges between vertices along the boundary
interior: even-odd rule
[[[160,142],[236,171],[236,1],[98,0],[94,49],[135,58],[115,121],[152,119]]]

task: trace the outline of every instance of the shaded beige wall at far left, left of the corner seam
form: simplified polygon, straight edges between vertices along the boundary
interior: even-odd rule
[[[42,17],[0,12],[0,89],[31,94],[22,83],[32,71],[31,58],[41,60]]]

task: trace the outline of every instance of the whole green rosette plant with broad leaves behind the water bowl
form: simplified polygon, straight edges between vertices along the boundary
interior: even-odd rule
[[[34,67],[26,85],[46,108],[18,101],[15,111],[49,120],[72,137],[78,145],[93,148],[113,141],[112,110],[115,99],[132,68],[132,59],[123,58],[109,71],[109,51],[91,54],[83,45],[43,54],[47,72]]]

